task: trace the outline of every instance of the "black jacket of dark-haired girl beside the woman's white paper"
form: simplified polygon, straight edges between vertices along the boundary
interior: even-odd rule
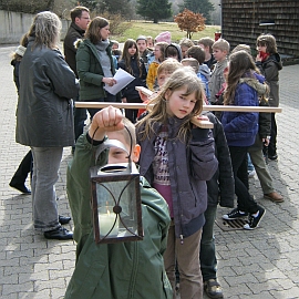
[[[124,60],[121,60],[118,62],[118,69],[123,69],[127,72],[125,68]],[[123,90],[122,90],[122,97],[127,99],[140,99],[138,92],[135,90],[136,86],[144,86],[146,87],[146,70],[143,60],[141,59],[141,70],[142,74],[140,72],[138,63],[135,60],[134,56],[131,58],[131,68],[132,68],[132,75],[135,78],[131,83],[128,83]]]

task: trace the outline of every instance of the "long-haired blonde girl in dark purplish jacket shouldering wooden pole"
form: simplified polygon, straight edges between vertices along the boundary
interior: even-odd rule
[[[169,206],[172,224],[164,261],[173,290],[177,262],[181,298],[200,299],[199,244],[207,207],[206,181],[218,166],[210,130],[190,123],[203,110],[200,81],[192,70],[178,69],[150,103],[148,114],[136,124],[142,147],[140,172]]]

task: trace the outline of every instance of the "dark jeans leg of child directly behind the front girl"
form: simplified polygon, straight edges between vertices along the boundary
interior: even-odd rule
[[[205,212],[206,223],[203,227],[200,241],[200,270],[203,280],[216,279],[217,259],[214,238],[214,223],[216,219],[217,206],[208,206]]]

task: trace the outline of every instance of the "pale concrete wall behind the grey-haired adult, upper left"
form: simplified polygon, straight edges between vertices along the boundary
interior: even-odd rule
[[[18,43],[29,30],[34,16],[0,10],[0,44]],[[62,20],[61,38],[66,34],[70,21]]]

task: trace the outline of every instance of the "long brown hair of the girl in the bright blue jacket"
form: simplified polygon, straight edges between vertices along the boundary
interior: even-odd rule
[[[245,50],[237,51],[229,56],[229,70],[227,74],[227,87],[224,94],[224,104],[234,105],[235,92],[240,78],[255,78],[254,72],[259,73],[252,56]]]

